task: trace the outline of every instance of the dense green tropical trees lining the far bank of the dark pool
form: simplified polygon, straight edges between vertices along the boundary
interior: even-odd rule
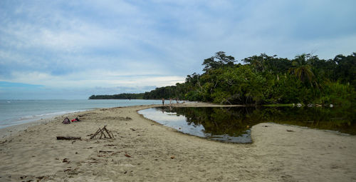
[[[140,94],[144,99],[179,98],[221,104],[350,106],[356,99],[356,53],[328,60],[312,54],[301,54],[294,59],[261,54],[242,59],[244,64],[236,62],[233,56],[219,51],[204,59],[202,74],[194,73],[182,84]]]

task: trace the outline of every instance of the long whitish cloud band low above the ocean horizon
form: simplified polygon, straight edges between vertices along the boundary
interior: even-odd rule
[[[43,85],[50,88],[90,88],[94,86],[167,86],[182,83],[184,76],[155,76],[155,75],[127,75],[100,70],[76,72],[65,76],[53,76],[41,72],[13,72],[14,79],[1,79],[1,81],[20,82]]]

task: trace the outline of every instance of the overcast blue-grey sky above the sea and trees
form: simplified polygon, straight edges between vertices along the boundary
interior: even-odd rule
[[[142,93],[225,51],[356,51],[354,0],[0,1],[0,99]]]

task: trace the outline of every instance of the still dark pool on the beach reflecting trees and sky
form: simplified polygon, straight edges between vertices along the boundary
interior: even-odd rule
[[[158,107],[139,113],[183,133],[234,143],[251,143],[251,126],[265,122],[356,134],[356,112],[350,108]]]

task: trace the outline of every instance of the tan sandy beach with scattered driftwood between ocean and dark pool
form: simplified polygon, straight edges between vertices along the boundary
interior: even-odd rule
[[[82,121],[67,125],[58,116],[2,129],[0,181],[356,181],[356,136],[260,123],[252,127],[252,144],[221,143],[137,113],[152,106],[71,113],[66,116]],[[90,139],[105,125],[115,138]]]

